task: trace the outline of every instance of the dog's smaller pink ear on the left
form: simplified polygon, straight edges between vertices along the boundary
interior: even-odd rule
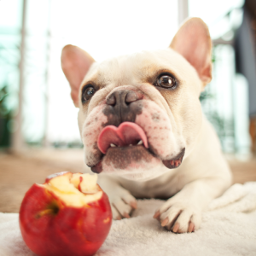
[[[95,60],[84,49],[68,44],[62,49],[61,67],[70,87],[71,97],[76,107],[79,107],[79,88]]]

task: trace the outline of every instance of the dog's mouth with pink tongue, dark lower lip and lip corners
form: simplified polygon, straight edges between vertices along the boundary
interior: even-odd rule
[[[124,122],[119,127],[108,125],[101,131],[97,147],[102,152],[102,160],[105,163],[112,163],[114,167],[125,169],[126,166],[137,167],[140,160],[150,161],[154,157],[158,157],[148,145],[148,138],[143,129],[132,122]],[[177,168],[183,161],[185,148],[172,157],[170,160],[162,160],[162,163],[169,169]],[[92,172],[102,172],[102,160],[96,166],[91,167]]]

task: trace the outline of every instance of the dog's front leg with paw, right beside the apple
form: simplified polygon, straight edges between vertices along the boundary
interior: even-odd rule
[[[98,176],[98,183],[108,195],[113,219],[130,218],[131,211],[137,208],[137,201],[119,184],[118,178],[102,173]]]

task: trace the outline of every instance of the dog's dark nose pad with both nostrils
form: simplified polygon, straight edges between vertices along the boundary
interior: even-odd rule
[[[119,105],[119,107],[126,107],[131,102],[140,100],[141,97],[132,90],[116,90],[107,97],[107,104],[111,106]]]

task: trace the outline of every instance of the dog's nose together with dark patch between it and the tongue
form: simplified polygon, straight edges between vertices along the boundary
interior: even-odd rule
[[[143,95],[132,90],[115,90],[106,99],[103,111],[108,116],[108,125],[119,126],[123,122],[134,122],[136,115],[142,112],[139,100]]]

